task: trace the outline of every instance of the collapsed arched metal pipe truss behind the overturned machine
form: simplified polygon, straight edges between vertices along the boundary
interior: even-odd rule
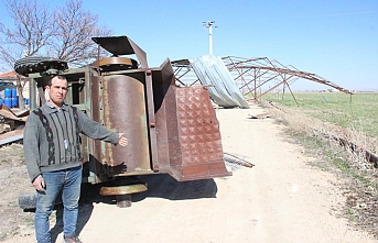
[[[284,66],[278,60],[270,60],[267,57],[244,58],[226,56],[222,59],[241,93],[246,97],[252,97],[251,99],[257,101],[263,95],[272,91],[282,91],[284,95],[287,89],[293,96],[290,86],[299,79],[306,79],[353,95],[349,90],[316,74],[299,70],[292,65]],[[172,67],[176,81],[181,86],[192,86],[199,82],[187,59],[174,60],[172,62]],[[295,99],[294,96],[293,98]]]

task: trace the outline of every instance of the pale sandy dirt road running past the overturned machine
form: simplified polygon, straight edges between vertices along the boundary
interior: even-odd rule
[[[377,242],[339,218],[345,198],[336,176],[307,163],[273,119],[249,119],[263,110],[219,109],[224,152],[255,167],[228,166],[233,176],[179,184],[169,176],[148,179],[149,191],[132,207],[110,199],[80,208],[83,242]],[[58,229],[58,227],[56,227]],[[33,242],[33,233],[6,242]],[[56,231],[57,241],[62,233]]]

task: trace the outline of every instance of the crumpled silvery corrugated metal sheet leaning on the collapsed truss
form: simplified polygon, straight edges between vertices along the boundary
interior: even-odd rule
[[[214,102],[225,108],[249,108],[220,57],[204,55],[190,62],[201,84],[208,86]]]

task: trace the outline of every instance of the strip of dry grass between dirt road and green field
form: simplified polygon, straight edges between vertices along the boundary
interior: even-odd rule
[[[315,166],[332,170],[343,178],[341,188],[345,196],[342,216],[359,229],[378,239],[378,169],[358,151],[376,154],[377,140],[363,130],[342,128],[304,114],[303,110],[263,103],[274,119],[288,126],[288,131],[306,147],[306,152],[320,157]],[[341,146],[334,137],[358,145],[358,150]],[[357,153],[356,153],[357,152]]]

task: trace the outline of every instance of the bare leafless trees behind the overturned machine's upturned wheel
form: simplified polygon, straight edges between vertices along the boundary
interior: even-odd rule
[[[36,0],[6,0],[6,8],[13,21],[0,21],[0,62],[7,69],[24,56],[48,56],[74,66],[89,63],[97,55],[91,37],[111,34],[98,26],[97,15],[85,11],[80,0],[67,0],[54,10]]]

